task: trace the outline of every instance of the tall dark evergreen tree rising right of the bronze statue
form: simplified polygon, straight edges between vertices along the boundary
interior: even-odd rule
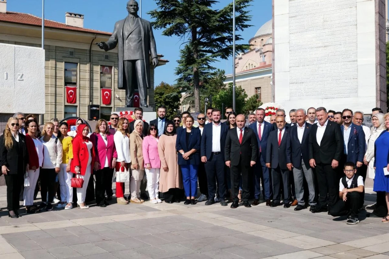
[[[232,54],[233,21],[232,3],[214,9],[215,0],[155,0],[158,9],[149,12],[155,19],[152,25],[163,30],[165,36],[178,36],[184,42],[180,52],[178,86],[193,88],[195,111],[200,112],[201,77],[214,70],[211,66],[218,58],[228,59]],[[251,25],[247,7],[252,0],[236,0],[235,30],[242,31]],[[235,40],[242,40],[238,33]],[[245,51],[249,45],[236,45],[236,51]]]

